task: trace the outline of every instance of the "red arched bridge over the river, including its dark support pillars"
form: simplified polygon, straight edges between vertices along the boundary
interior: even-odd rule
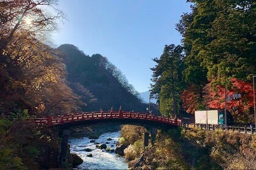
[[[70,135],[70,127],[82,125],[91,126],[96,124],[133,124],[144,126],[148,132],[144,132],[144,146],[148,146],[149,133],[151,134],[151,143],[154,144],[155,134],[154,128],[157,129],[173,129],[181,126],[182,121],[177,118],[159,117],[140,112],[123,111],[120,107],[119,111],[113,109],[110,112],[84,112],[77,114],[60,115],[55,117],[36,118],[35,123],[46,125],[49,127],[60,127],[60,137],[62,138],[60,151],[60,165],[66,168],[67,165],[67,149],[68,137]]]

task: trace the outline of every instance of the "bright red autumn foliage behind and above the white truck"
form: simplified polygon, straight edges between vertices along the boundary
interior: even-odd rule
[[[250,108],[254,106],[252,83],[247,83],[237,78],[230,80],[230,87],[226,88],[226,98],[230,95],[230,101],[227,100],[227,110],[232,113],[236,122],[250,122],[253,120],[253,114]],[[207,94],[205,91],[207,90]],[[201,94],[201,95],[200,95]],[[233,98],[234,94],[239,94],[240,98]],[[183,90],[182,95],[183,108],[187,109],[188,113],[193,113],[196,109],[205,109],[207,101],[208,109],[225,108],[225,87],[211,86],[207,84],[204,89],[198,89],[195,86],[190,86]],[[202,108],[200,108],[203,106]]]

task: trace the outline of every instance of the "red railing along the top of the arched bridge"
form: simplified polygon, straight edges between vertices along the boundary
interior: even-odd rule
[[[151,114],[144,114],[141,112],[84,112],[68,115],[59,115],[55,117],[46,117],[46,118],[37,118],[35,123],[37,124],[47,124],[48,126],[57,126],[61,124],[73,123],[76,121],[85,121],[85,120],[104,120],[104,119],[138,119],[138,120],[147,120],[154,121],[158,123],[171,124],[174,126],[181,126],[182,121],[177,120],[177,118],[168,118],[168,117],[158,117]]]

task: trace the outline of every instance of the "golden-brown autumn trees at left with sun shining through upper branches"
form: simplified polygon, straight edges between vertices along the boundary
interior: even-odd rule
[[[55,9],[56,3],[0,2],[0,109],[5,112],[21,108],[30,114],[46,115],[79,109],[79,97],[66,84],[62,56],[41,41],[64,16]],[[47,12],[46,7],[57,14]]]

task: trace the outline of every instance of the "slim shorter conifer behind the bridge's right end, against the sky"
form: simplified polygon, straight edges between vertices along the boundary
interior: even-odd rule
[[[153,71],[151,95],[158,98],[160,112],[164,115],[178,114],[180,89],[182,88],[182,47],[171,44],[165,46],[163,54],[153,60],[157,65]]]

